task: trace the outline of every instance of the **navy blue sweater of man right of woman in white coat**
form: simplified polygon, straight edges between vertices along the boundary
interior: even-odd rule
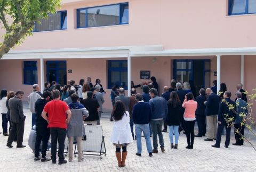
[[[138,102],[133,106],[132,119],[135,124],[148,124],[153,113],[148,102]]]

